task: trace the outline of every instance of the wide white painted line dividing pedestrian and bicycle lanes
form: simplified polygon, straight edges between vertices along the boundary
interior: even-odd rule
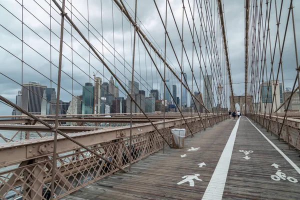
[[[240,118],[237,119],[235,126],[231,131],[202,199],[222,199],[239,119]]]

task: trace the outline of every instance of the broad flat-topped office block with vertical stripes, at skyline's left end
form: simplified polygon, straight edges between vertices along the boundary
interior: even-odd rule
[[[47,86],[38,82],[28,82],[22,85],[21,107],[31,114],[39,115],[43,91]]]

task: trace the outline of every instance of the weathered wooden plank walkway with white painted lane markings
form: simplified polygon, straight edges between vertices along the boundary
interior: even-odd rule
[[[204,193],[205,199],[212,200],[300,199],[300,174],[296,169],[244,116],[239,120],[234,142],[231,132],[236,121],[225,120],[207,128],[192,138],[185,138],[183,149],[166,148],[165,153],[161,150],[134,163],[131,172],[116,172],[62,199],[201,199]],[[285,142],[261,131],[296,166],[300,166],[299,151],[289,150]],[[234,143],[231,159],[227,153],[230,151],[228,139],[233,139]],[[198,149],[188,151],[191,147]],[[225,153],[222,154],[223,150]],[[186,156],[180,156],[184,154]],[[293,177],[289,178],[292,182],[283,174],[281,177],[285,180],[279,176],[273,178],[280,180],[273,180],[271,175],[276,172],[279,176],[283,172],[287,177]],[[200,180],[193,179],[194,186],[188,181],[177,184],[185,179],[182,177],[195,174]]]

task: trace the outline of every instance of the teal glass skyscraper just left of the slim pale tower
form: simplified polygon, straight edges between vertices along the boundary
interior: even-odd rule
[[[85,86],[82,87],[82,114],[93,113],[93,92],[94,86],[92,86],[92,83],[86,82]]]

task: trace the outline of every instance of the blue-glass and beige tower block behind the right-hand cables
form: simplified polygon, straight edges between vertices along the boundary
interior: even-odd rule
[[[276,104],[277,107],[279,107],[283,103],[282,83],[274,80],[271,80],[270,84],[268,84],[268,82],[263,82],[259,85],[259,91],[261,91],[261,112],[265,111],[266,113],[269,113],[271,111],[275,111],[277,109]],[[274,100],[273,95],[275,98]],[[272,101],[274,101],[273,106]],[[278,110],[278,112],[283,112],[283,106]]]

